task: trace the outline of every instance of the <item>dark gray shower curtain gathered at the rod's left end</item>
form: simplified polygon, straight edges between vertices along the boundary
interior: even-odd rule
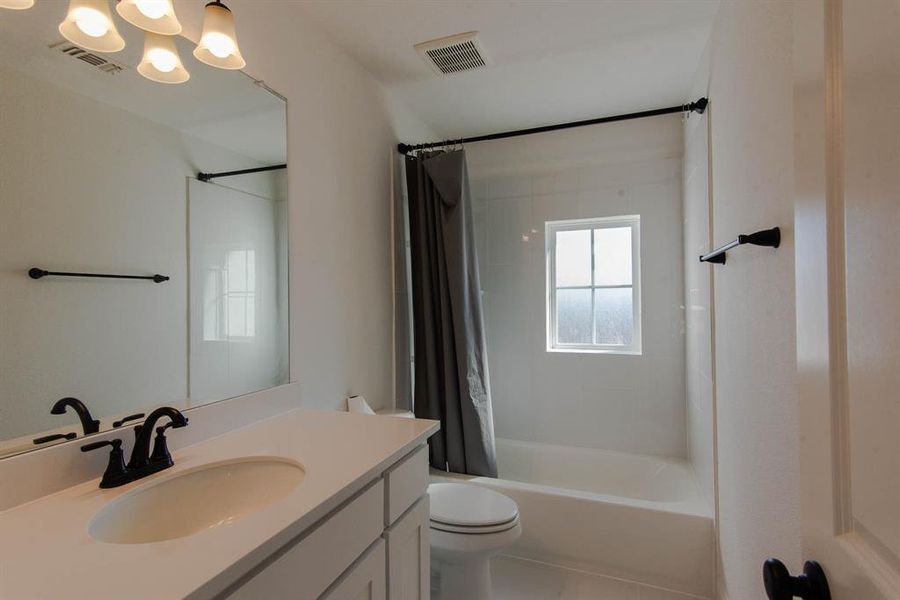
[[[497,476],[472,199],[462,150],[406,157],[416,416],[437,419],[431,465]]]

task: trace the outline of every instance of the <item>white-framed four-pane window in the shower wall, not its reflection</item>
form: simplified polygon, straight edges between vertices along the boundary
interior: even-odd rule
[[[549,221],[547,350],[641,353],[640,217]]]

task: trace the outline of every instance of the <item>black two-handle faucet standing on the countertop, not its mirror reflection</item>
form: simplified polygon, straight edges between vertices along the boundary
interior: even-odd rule
[[[156,427],[156,442],[153,445],[153,454],[150,454],[150,437],[156,422],[162,417],[169,417],[170,422],[162,427]],[[144,421],[142,425],[134,428],[134,448],[131,449],[131,459],[128,465],[122,456],[122,440],[106,440],[102,442],[94,442],[81,447],[82,452],[90,452],[105,446],[112,446],[112,452],[109,455],[109,464],[106,466],[106,472],[100,481],[100,487],[111,488],[125,485],[137,479],[142,479],[153,473],[168,469],[173,464],[172,456],[166,446],[165,431],[169,427],[178,429],[186,426],[187,417],[180,411],[170,406],[157,408]]]

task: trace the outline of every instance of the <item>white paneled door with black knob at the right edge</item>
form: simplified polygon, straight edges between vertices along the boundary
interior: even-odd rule
[[[835,600],[900,598],[900,4],[794,17],[803,552]]]

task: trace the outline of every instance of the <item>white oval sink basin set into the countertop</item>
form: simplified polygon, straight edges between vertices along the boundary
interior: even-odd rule
[[[251,457],[210,463],[134,489],[103,507],[91,537],[147,544],[237,521],[291,493],[306,476],[300,463]]]

